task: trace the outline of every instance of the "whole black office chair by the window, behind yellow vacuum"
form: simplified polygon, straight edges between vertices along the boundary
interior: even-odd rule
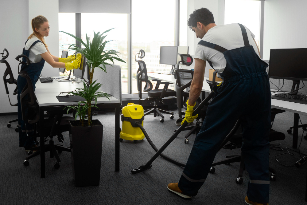
[[[163,82],[160,80],[153,80],[153,81],[157,81],[156,87],[155,89],[153,89],[152,83],[150,82],[150,80],[148,80],[146,64],[142,60],[137,60],[137,55],[138,55],[138,58],[142,59],[143,57],[145,57],[145,51],[140,49],[140,52],[135,55],[135,61],[138,62],[138,66],[139,66],[136,77],[137,77],[138,97],[140,100],[140,104],[142,104],[141,102],[143,100],[153,101],[153,108],[144,110],[144,116],[150,113],[153,113],[154,117],[156,116],[161,117],[160,122],[164,122],[164,116],[161,114],[161,112],[163,112],[165,114],[169,114],[170,115],[169,118],[173,119],[174,118],[173,112],[168,112],[168,111],[157,108],[157,102],[161,102],[162,104],[164,104],[162,100],[164,97],[176,96],[176,91],[168,89],[168,86],[172,83]],[[142,82],[146,83],[143,89],[143,91],[147,92],[149,96],[146,99],[142,99]],[[159,89],[160,84],[164,85],[163,89]]]

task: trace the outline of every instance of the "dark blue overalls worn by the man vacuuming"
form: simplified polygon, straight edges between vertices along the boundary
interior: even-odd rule
[[[227,50],[206,41],[199,44],[224,54],[223,84],[214,86],[215,97],[207,109],[200,132],[179,181],[185,195],[195,196],[207,178],[220,145],[239,119],[243,128],[242,157],[249,173],[248,199],[269,202],[269,132],[271,96],[266,64],[240,25],[244,47]],[[211,63],[210,63],[211,64]]]

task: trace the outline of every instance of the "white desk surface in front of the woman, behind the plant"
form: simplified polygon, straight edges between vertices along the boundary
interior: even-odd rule
[[[35,86],[35,95],[39,106],[74,105],[78,104],[78,102],[59,102],[56,96],[60,94],[60,92],[68,92],[76,88],[83,88],[83,83],[77,84],[70,81],[59,82],[56,80],[52,83],[41,83],[41,81],[37,81]],[[108,100],[106,97],[97,97],[97,104],[101,103],[119,103],[119,99],[110,97],[110,100]]]

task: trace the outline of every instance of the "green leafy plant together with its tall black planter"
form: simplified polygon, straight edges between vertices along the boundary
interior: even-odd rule
[[[100,182],[103,125],[99,120],[91,120],[91,108],[98,108],[96,107],[97,97],[109,99],[110,96],[107,93],[98,92],[101,84],[96,83],[96,81],[93,82],[94,69],[98,67],[106,72],[106,65],[111,65],[105,62],[106,60],[110,60],[112,63],[114,63],[114,60],[125,62],[118,57],[118,51],[104,50],[106,43],[109,41],[104,41],[106,35],[103,36],[103,34],[110,30],[106,30],[102,34],[94,32],[92,41],[85,33],[86,44],[81,38],[62,31],[84,45],[85,48],[81,49],[77,44],[72,44],[69,45],[68,50],[80,52],[87,58],[90,76],[88,85],[83,81],[84,88],[69,93],[81,96],[85,101],[80,101],[78,106],[67,107],[68,110],[74,109],[76,111],[75,121],[69,122],[72,167],[76,187],[95,186],[99,185]],[[113,65],[111,66],[113,67]],[[95,105],[92,105],[94,99]],[[86,112],[88,119],[85,119]],[[80,117],[80,120],[77,120],[77,116]]]

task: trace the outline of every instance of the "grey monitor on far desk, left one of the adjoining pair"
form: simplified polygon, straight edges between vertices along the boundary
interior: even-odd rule
[[[160,47],[160,64],[177,65],[178,46]]]

